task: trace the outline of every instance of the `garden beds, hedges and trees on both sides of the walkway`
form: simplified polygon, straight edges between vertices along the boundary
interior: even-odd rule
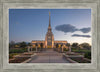
[[[34,56],[34,52],[40,53],[41,51],[45,51],[43,48],[43,44],[40,44],[38,47],[32,47],[31,44],[25,44],[24,42],[19,45],[15,45],[16,47],[9,48],[9,63],[23,63],[26,62],[29,58]],[[54,51],[64,53],[63,57],[71,63],[91,63],[91,49],[90,46],[84,46],[85,44],[81,44],[83,47],[81,48],[77,43],[70,45],[66,44],[67,47],[63,47],[63,45],[57,44],[53,49]],[[51,48],[50,48],[51,49]]]

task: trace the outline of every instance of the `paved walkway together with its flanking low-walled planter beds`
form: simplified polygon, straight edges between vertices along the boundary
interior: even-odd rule
[[[62,48],[27,48],[26,52],[15,54],[9,63],[90,63],[84,53],[73,52],[71,48],[66,51]]]

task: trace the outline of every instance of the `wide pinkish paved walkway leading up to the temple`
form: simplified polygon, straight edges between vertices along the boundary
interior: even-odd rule
[[[32,59],[29,63],[69,63],[62,56],[62,53],[48,49],[41,53],[37,53],[37,57]]]

